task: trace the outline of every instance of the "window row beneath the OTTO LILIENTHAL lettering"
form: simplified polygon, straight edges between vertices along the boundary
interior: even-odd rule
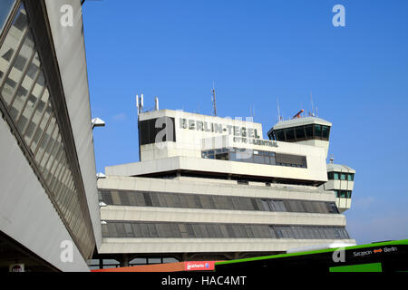
[[[267,165],[279,165],[307,168],[306,156],[282,154],[263,150],[223,148],[219,150],[201,151],[201,158],[212,160],[230,160]]]

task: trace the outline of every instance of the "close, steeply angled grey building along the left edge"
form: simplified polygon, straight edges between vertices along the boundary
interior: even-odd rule
[[[0,2],[1,272],[89,271],[101,245],[81,2],[63,25],[66,3]]]

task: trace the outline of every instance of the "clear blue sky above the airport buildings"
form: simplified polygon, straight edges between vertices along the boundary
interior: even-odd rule
[[[332,8],[345,6],[345,27]],[[266,131],[311,109],[329,155],[356,170],[347,229],[359,244],[408,238],[407,1],[87,0],[83,22],[98,171],[139,160],[145,107],[249,116]]]

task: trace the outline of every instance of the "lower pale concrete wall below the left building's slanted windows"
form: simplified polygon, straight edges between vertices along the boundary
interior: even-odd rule
[[[74,262],[61,261],[61,245],[72,237],[3,119],[0,136],[0,231],[61,271],[89,271],[74,244]]]

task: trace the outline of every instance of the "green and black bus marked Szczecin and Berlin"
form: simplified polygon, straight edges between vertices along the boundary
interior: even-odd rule
[[[215,272],[408,272],[408,239],[215,263]]]

